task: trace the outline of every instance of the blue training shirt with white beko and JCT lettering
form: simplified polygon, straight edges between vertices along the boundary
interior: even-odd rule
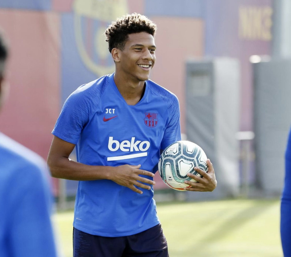
[[[180,110],[173,93],[150,80],[145,84],[136,105],[126,103],[113,74],[80,86],[65,101],[52,133],[76,144],[83,164],[141,164],[155,173],[160,150],[181,140]],[[73,226],[118,237],[159,224],[153,188],[141,190],[138,194],[112,180],[79,181]]]

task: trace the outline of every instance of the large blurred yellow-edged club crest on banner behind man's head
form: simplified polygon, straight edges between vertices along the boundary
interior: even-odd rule
[[[86,68],[98,76],[113,72],[115,65],[104,31],[128,13],[127,0],[74,0],[73,10],[76,45]]]

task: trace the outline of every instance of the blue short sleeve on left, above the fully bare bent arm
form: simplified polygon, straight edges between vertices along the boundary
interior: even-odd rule
[[[88,122],[90,107],[84,91],[75,91],[65,101],[52,134],[77,144],[84,125]]]

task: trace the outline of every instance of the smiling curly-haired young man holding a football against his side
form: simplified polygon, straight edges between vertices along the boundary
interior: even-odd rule
[[[74,256],[168,256],[153,199],[161,150],[181,139],[178,99],[149,80],[156,25],[121,17],[105,35],[115,73],[80,86],[66,100],[48,156],[52,176],[79,180]],[[77,161],[68,159],[76,146]],[[189,191],[216,187],[209,173]]]

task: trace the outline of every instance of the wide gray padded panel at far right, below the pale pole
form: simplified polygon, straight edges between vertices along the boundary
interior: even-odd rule
[[[256,177],[265,194],[280,194],[291,124],[291,59],[253,64]]]

